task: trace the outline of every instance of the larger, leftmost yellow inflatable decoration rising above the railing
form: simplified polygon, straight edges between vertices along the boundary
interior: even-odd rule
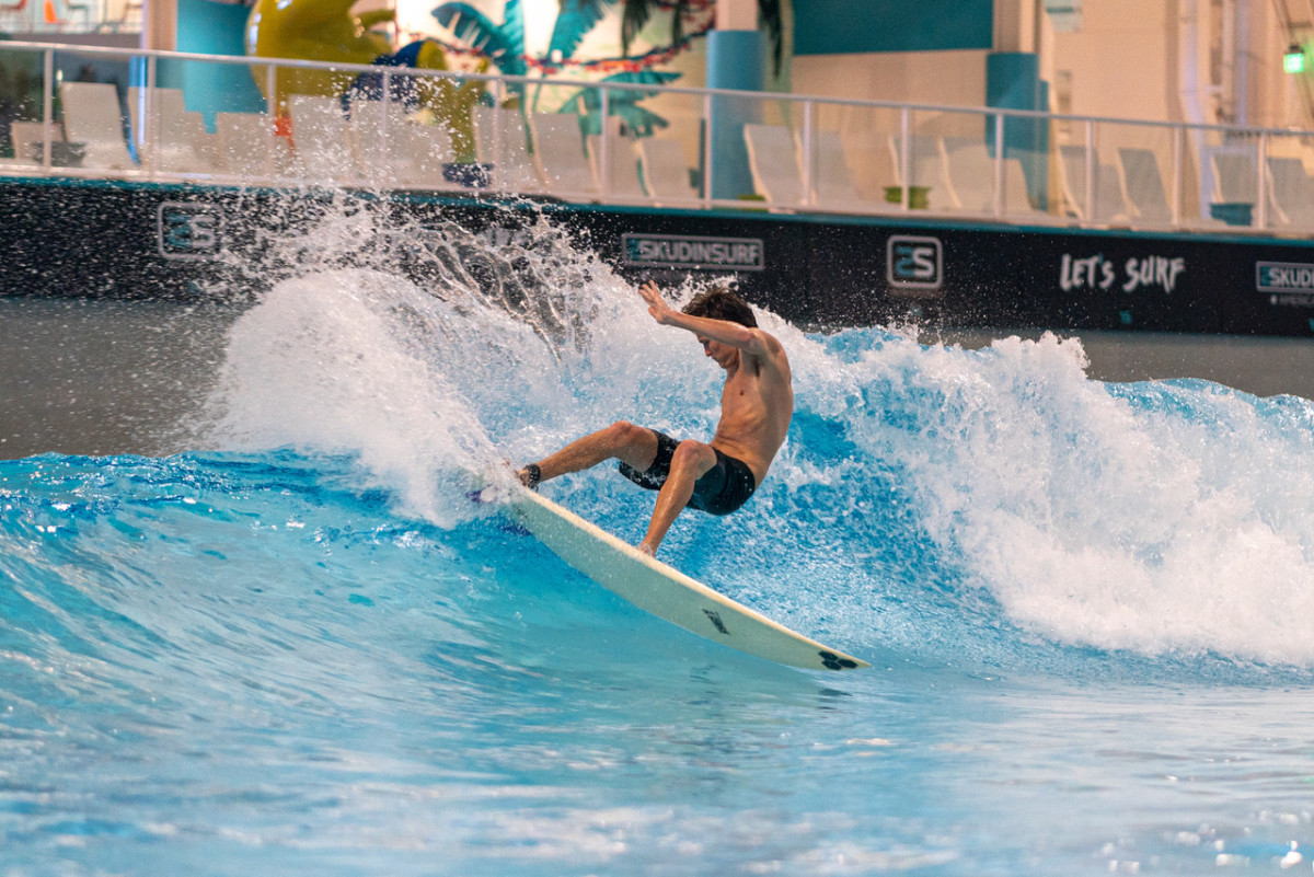
[[[392,9],[351,14],[356,0],[259,0],[247,18],[247,55],[368,64],[392,53],[386,37],[371,28],[392,21]],[[269,97],[268,68],[252,67],[256,87]],[[288,95],[342,95],[355,74],[328,70],[279,68],[275,81],[276,114],[286,114]]]

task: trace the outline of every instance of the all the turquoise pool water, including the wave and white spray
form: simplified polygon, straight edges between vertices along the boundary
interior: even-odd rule
[[[790,438],[664,559],[874,664],[795,671],[465,500],[714,425],[691,337],[543,272],[307,270],[185,453],[0,462],[0,874],[1310,873],[1314,403],[767,315]],[[544,490],[631,541],[652,508]]]

